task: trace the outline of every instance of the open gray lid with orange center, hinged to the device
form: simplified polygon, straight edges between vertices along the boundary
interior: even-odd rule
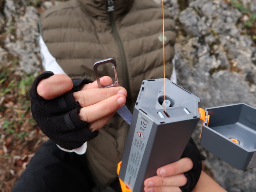
[[[236,169],[256,167],[256,108],[244,103],[206,108],[200,143]]]

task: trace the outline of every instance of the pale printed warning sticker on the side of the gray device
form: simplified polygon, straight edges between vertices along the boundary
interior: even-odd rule
[[[153,122],[154,121],[149,116],[139,111],[132,140],[132,147],[126,168],[126,174],[124,177],[124,183],[131,190],[134,188],[138,170],[140,168],[140,163],[144,155]]]

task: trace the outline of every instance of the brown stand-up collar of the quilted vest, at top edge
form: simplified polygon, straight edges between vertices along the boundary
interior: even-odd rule
[[[91,16],[99,20],[108,20],[108,9],[114,9],[115,18],[126,14],[132,7],[134,0],[78,0],[82,8]],[[114,7],[111,8],[111,2]]]

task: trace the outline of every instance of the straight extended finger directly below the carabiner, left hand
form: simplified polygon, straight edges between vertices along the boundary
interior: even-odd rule
[[[74,92],[73,96],[76,101],[79,102],[80,106],[86,107],[96,104],[102,100],[110,98],[116,94],[123,94],[127,96],[127,92],[123,87],[110,87],[105,89],[88,89],[78,92]]]

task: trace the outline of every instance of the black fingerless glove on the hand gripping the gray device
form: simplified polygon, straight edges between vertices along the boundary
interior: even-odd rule
[[[194,166],[188,172],[185,172],[184,175],[186,176],[188,182],[186,185],[180,187],[182,192],[191,192],[194,187],[196,186],[200,174],[202,171],[202,160],[205,160],[206,157],[203,156],[200,151],[198,150],[194,140],[190,138],[181,158],[188,157],[192,160]]]

